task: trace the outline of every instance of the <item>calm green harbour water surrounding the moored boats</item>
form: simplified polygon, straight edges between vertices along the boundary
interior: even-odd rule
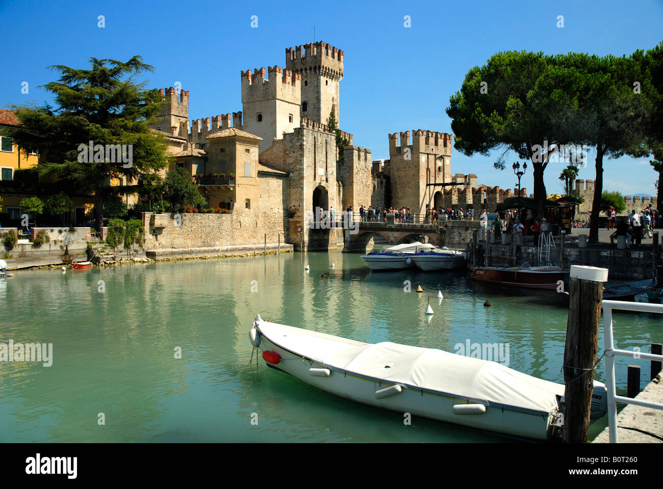
[[[414,292],[418,283],[426,293]],[[447,351],[467,339],[508,343],[511,368],[563,382],[566,309],[558,294],[540,294],[481,286],[465,270],[371,272],[358,254],[340,252],[19,271],[0,278],[0,343],[52,343],[53,360],[0,362],[0,441],[510,441],[424,419],[406,426],[402,414],[256,366],[247,333],[260,313],[371,343]],[[616,315],[617,347],[648,352],[662,324]],[[621,392],[627,363],[649,370],[617,362]]]

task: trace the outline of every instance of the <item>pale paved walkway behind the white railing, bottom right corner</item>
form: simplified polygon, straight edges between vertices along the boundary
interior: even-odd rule
[[[661,372],[636,399],[663,403]],[[663,443],[663,411],[629,404],[617,415],[619,443]],[[609,427],[601,431],[592,443],[610,443]]]

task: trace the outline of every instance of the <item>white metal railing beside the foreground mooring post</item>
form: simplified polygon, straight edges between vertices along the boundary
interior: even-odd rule
[[[617,403],[634,404],[636,406],[650,407],[652,409],[663,409],[663,404],[648,402],[638,399],[617,396],[615,392],[615,356],[634,357],[633,351],[615,349],[613,342],[613,309],[622,311],[648,312],[663,314],[663,304],[650,304],[643,302],[626,301],[601,301],[603,308],[603,336],[605,339],[605,386],[608,395],[608,426],[610,432],[610,443],[617,443]],[[663,361],[663,355],[651,353],[637,353],[642,360]]]

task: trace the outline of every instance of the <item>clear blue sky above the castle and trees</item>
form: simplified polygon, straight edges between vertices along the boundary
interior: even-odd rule
[[[99,28],[97,18],[105,17]],[[256,15],[258,27],[251,27]],[[404,27],[410,16],[411,27]],[[558,16],[564,27],[558,28]],[[240,70],[285,66],[285,49],[324,40],[345,51],[341,129],[373,159],[389,158],[387,134],[451,132],[449,97],[467,71],[504,50],[631,54],[663,39],[663,1],[465,2],[168,2],[0,0],[5,63],[0,107],[50,101],[38,85],[56,78],[53,64],[86,68],[91,57],[152,64],[149,87],[176,82],[190,91],[190,119],[241,110]],[[316,29],[314,39],[314,26]],[[21,93],[21,83],[29,93]],[[593,179],[590,152],[579,178]],[[516,160],[513,156],[511,160]],[[452,154],[453,173],[513,188],[511,168],[495,157]],[[566,166],[549,164],[548,193],[562,190]],[[648,159],[604,162],[605,190],[655,194]],[[522,186],[533,190],[532,175]]]

